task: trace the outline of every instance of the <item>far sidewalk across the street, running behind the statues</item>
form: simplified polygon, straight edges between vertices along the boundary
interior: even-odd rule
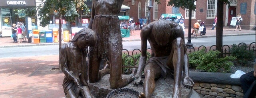
[[[198,35],[198,38],[201,37],[216,37],[216,29],[211,30],[212,27],[206,27],[206,35]],[[188,38],[188,28],[185,29],[185,39]],[[140,38],[140,30],[135,30],[134,34],[130,35],[130,37],[124,37],[123,41],[141,41]],[[236,36],[236,35],[255,35],[255,31],[253,30],[244,30],[242,31],[234,31],[232,27],[224,27],[223,29],[223,36]],[[191,36],[194,38],[194,35]],[[66,42],[63,42],[66,43]],[[4,47],[25,47],[25,46],[37,46],[37,45],[59,45],[59,43],[34,43],[32,39],[32,43],[23,42],[23,43],[13,43],[13,39],[11,37],[1,37],[0,38],[0,48]]]

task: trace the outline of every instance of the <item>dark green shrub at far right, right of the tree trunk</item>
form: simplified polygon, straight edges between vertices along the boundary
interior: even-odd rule
[[[240,66],[249,66],[251,65],[251,62],[254,62],[254,52],[253,51],[248,51],[247,45],[236,45],[233,44],[230,53],[232,56],[235,56],[237,59],[235,60],[235,65],[240,65]]]

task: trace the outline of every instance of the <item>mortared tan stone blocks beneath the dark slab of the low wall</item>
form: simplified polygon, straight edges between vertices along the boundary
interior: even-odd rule
[[[243,98],[240,85],[195,82],[193,89],[202,98]]]

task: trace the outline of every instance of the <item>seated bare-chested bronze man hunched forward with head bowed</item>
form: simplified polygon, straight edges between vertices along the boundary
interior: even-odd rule
[[[151,58],[147,59],[147,41],[152,49]],[[155,90],[155,79],[174,71],[173,98],[181,98],[181,78],[183,84],[191,88],[194,82],[189,77],[189,58],[186,53],[183,29],[169,20],[154,21],[141,30],[141,57],[135,84],[141,84],[141,72],[144,69],[145,80],[140,98],[151,98]]]

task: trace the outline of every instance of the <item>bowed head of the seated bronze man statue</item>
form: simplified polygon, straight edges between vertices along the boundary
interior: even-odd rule
[[[167,43],[169,43],[169,38],[171,35],[171,26],[167,21],[169,20],[158,20],[153,25],[152,33],[155,37],[155,41],[159,45],[166,45]]]

